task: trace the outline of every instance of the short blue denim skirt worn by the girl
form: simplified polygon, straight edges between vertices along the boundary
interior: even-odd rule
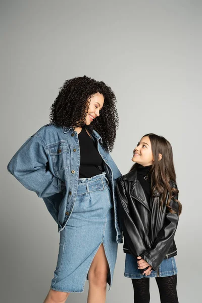
[[[159,273],[159,275],[158,275]],[[157,278],[168,277],[177,274],[177,266],[175,263],[175,257],[164,259],[157,271],[151,271],[149,276],[142,275],[140,270],[137,268],[137,259],[130,254],[126,254],[125,259],[125,272],[124,276],[131,279],[141,278]]]

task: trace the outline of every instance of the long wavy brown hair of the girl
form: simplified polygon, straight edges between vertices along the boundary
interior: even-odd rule
[[[170,207],[171,199],[174,199],[178,203],[178,213],[181,214],[182,205],[176,197],[179,193],[176,184],[176,174],[173,163],[173,150],[170,142],[162,136],[150,133],[143,137],[149,137],[151,142],[151,150],[154,157],[153,165],[150,169],[151,176],[151,195],[158,191],[161,195],[161,206],[163,206],[164,201],[166,201],[167,193],[168,201],[167,207],[169,212],[175,213],[175,211]],[[142,138],[143,138],[142,137]],[[159,154],[162,154],[162,159],[159,161]],[[138,166],[135,163],[130,171],[133,171]],[[174,184],[173,184],[174,182]]]

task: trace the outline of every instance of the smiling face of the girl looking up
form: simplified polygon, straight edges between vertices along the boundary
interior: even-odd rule
[[[142,137],[141,141],[133,150],[132,161],[141,164],[142,166],[153,164],[154,157],[151,150],[151,142],[148,136]]]

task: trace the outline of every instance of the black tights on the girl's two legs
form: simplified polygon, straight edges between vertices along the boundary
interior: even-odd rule
[[[177,275],[156,278],[161,303],[178,303]],[[149,278],[132,279],[135,303],[149,303]]]

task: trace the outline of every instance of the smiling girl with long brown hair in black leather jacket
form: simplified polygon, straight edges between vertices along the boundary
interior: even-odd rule
[[[171,144],[146,134],[132,161],[136,163],[130,172],[117,181],[125,276],[132,279],[135,303],[149,302],[149,277],[156,278],[162,303],[177,303],[174,235],[182,206]]]

